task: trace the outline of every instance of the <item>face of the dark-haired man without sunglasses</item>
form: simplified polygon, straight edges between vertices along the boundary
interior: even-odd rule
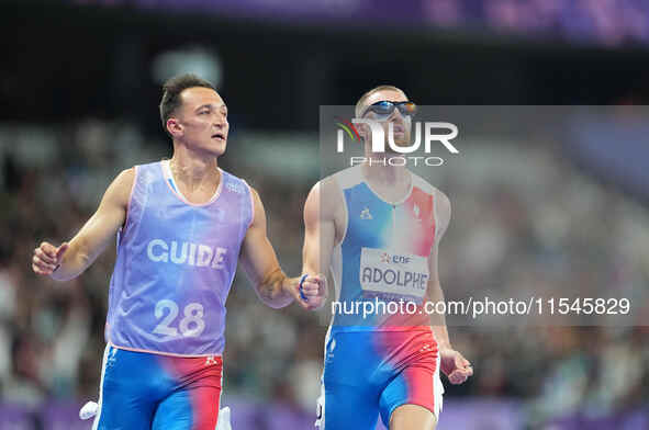
[[[181,105],[174,115],[180,136],[189,148],[216,157],[227,144],[227,106],[210,88],[193,87],[180,93]]]

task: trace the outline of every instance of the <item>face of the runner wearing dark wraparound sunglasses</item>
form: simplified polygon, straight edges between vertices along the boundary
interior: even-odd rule
[[[411,129],[412,129],[412,117],[410,115],[403,115],[399,109],[394,109],[394,111],[388,116],[381,116],[372,111],[368,111],[372,104],[381,101],[389,101],[389,102],[406,102],[407,97],[402,91],[396,90],[380,90],[370,94],[363,103],[361,112],[365,112],[362,115],[365,118],[379,121],[381,126],[383,127],[383,133],[385,136],[385,148],[388,148],[388,125],[390,123],[393,124],[393,132],[394,132],[394,144],[398,146],[410,146],[410,138],[411,138]],[[365,132],[365,133],[363,133]],[[367,143],[371,143],[371,133],[368,126],[362,127],[363,138]]]

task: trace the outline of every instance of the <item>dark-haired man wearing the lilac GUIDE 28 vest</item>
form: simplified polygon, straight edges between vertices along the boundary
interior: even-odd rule
[[[160,117],[172,158],[123,171],[69,245],[34,250],[34,272],[67,281],[119,234],[93,430],[214,430],[237,261],[268,306],[324,297],[321,278],[284,275],[259,195],[219,168],[230,125],[214,87],[168,80]]]

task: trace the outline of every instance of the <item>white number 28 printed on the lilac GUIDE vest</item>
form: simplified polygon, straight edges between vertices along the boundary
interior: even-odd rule
[[[190,303],[182,310],[183,318],[178,322],[178,328],[172,327],[178,316],[178,304],[170,299],[163,299],[156,303],[155,315],[157,319],[163,319],[154,329],[156,335],[178,336],[178,331],[186,338],[199,336],[205,329],[203,320],[203,305],[200,303]]]

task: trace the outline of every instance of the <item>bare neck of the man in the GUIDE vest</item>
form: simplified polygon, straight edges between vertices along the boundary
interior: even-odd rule
[[[219,182],[221,176],[216,157],[197,152],[181,144],[174,145],[169,168],[174,179],[189,190]]]

